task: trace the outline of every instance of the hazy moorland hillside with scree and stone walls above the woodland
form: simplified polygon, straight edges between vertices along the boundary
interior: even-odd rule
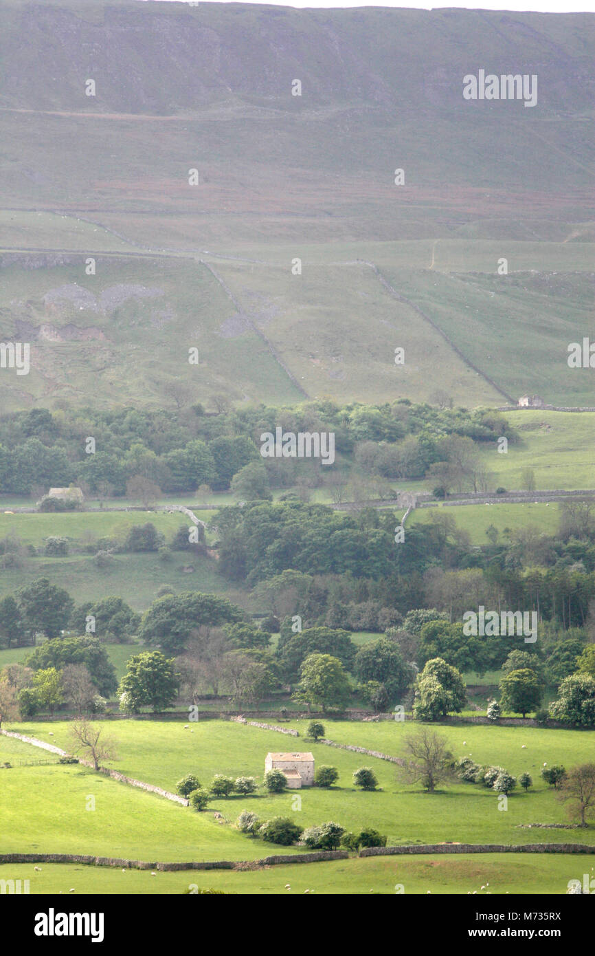
[[[2,372],[3,407],[90,381],[102,406],[594,404],[565,360],[593,293],[594,22],[5,4],[0,336],[32,372]],[[465,100],[479,68],[538,76],[537,102]]]

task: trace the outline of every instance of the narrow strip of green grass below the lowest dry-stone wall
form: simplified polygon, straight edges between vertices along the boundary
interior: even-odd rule
[[[32,894],[185,894],[218,889],[225,893],[295,896],[338,894],[551,894],[563,895],[568,880],[593,877],[595,855],[581,857],[505,856],[501,853],[350,858],[290,864],[252,871],[184,870],[176,873],[125,870],[68,863],[0,865],[0,880],[30,880]],[[287,889],[287,884],[289,888]],[[484,886],[485,889],[481,889]],[[398,904],[397,904],[398,905]],[[405,918],[403,914],[403,918]]]

